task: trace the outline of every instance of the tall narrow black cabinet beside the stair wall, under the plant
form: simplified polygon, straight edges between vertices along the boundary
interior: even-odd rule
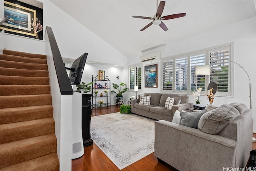
[[[93,145],[91,139],[92,94],[82,94],[82,136],[84,147]]]

